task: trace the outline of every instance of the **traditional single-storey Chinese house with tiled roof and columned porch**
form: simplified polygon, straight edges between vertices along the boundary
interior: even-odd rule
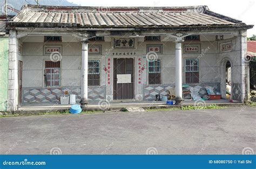
[[[154,100],[174,89],[211,87],[243,102],[248,93],[246,25],[187,7],[25,5],[9,30],[8,102]],[[227,71],[228,70],[228,71]],[[228,73],[229,72],[229,73]]]

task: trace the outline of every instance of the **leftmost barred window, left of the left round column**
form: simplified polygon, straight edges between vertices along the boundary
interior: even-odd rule
[[[46,87],[60,86],[60,61],[45,61],[44,82]]]

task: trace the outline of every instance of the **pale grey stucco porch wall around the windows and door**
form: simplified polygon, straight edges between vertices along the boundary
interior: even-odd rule
[[[228,39],[230,40],[230,39]],[[226,40],[226,41],[228,41]],[[239,38],[231,39],[234,44],[239,43]],[[41,41],[41,42],[37,42]],[[134,68],[135,68],[135,78],[134,83],[134,98],[143,97],[145,95],[145,87],[151,86],[147,83],[147,71],[144,71],[142,74],[143,77],[143,86],[138,85],[138,58],[142,58],[142,64],[147,65],[146,59],[146,45],[147,44],[162,44],[163,45],[163,54],[158,54],[158,58],[161,59],[161,84],[159,86],[173,86],[175,83],[175,44],[173,41],[154,41],[146,42],[136,39],[137,48],[134,50],[112,50],[112,40],[107,39],[105,42],[93,43],[95,45],[102,45],[102,55],[89,55],[89,60],[100,60],[100,86],[104,88],[105,98],[112,100],[113,95],[113,75],[111,72],[111,86],[106,86],[106,73],[103,69],[106,65],[107,58],[123,58],[127,56],[116,56],[112,53],[117,51],[133,51],[136,52],[136,55],[130,57],[134,58]],[[199,59],[199,83],[208,84],[215,86],[220,83],[220,70],[221,62],[223,58],[228,57],[232,60],[233,68],[241,71],[240,67],[240,47],[237,45],[233,46],[232,52],[219,52],[219,43],[220,41],[193,41],[194,44],[200,44],[201,50],[206,52],[201,54],[184,54],[183,51],[183,83],[185,82],[184,76],[184,60],[185,58],[195,58]],[[90,43],[89,45],[91,45]],[[190,41],[185,41],[184,44],[191,44]],[[61,81],[60,87],[80,87],[80,66],[81,66],[81,44],[76,41],[76,39],[63,38],[63,43],[48,43],[44,44],[42,37],[35,38],[29,37],[23,41],[23,88],[28,90],[33,88],[43,88],[43,69],[44,69],[44,60],[50,60],[49,56],[43,55],[43,45],[62,45],[62,60],[61,60]],[[106,51],[110,51],[109,54],[104,55]],[[111,67],[113,67],[113,59],[111,59]],[[239,83],[241,81],[241,76],[233,76],[233,82]],[[153,85],[156,86],[156,85]],[[219,86],[219,85],[218,85]]]

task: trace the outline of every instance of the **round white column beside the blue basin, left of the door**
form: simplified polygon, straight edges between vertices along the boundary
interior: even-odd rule
[[[88,100],[88,42],[82,42],[82,68],[81,68],[81,101],[84,107]]]

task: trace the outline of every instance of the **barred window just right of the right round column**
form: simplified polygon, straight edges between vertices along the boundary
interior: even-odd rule
[[[186,83],[199,83],[198,59],[185,59]]]

